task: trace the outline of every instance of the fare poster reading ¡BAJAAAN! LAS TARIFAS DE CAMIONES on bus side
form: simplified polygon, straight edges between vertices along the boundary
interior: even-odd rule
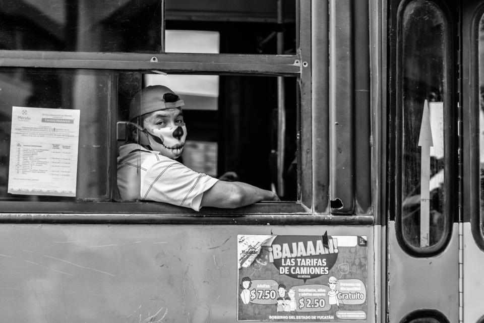
[[[366,236],[238,235],[237,241],[237,320],[366,320]]]

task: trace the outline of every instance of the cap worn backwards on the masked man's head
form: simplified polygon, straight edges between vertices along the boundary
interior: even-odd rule
[[[130,120],[134,118],[164,109],[184,106],[181,98],[163,85],[147,86],[136,93],[130,103]]]

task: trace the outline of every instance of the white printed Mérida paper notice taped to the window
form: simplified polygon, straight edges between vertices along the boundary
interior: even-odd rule
[[[12,107],[12,194],[76,196],[80,110]]]

